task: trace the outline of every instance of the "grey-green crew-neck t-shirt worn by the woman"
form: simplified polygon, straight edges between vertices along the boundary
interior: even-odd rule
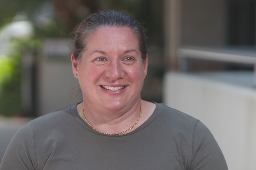
[[[0,170],[146,169],[226,170],[211,132],[197,119],[164,104],[134,131],[95,132],[76,105],[41,116],[13,137]]]

